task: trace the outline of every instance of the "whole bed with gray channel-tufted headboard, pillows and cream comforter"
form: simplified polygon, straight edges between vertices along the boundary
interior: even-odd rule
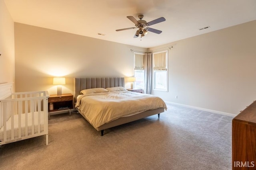
[[[123,77],[74,78],[74,108],[97,131],[101,131],[102,136],[104,129],[155,114],[158,114],[159,117],[160,113],[167,109],[161,98],[130,92],[124,89],[124,84]],[[86,92],[82,94],[82,91]],[[140,101],[140,98],[143,100]],[[149,98],[151,102],[147,102],[146,98]],[[130,107],[124,108],[122,105]],[[133,107],[137,110],[134,110]],[[112,115],[106,114],[112,112]],[[95,121],[95,119],[97,120]],[[99,121],[103,122],[99,123]]]

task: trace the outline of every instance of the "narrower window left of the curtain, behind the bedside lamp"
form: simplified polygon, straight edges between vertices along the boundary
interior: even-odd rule
[[[144,89],[144,53],[134,52],[134,88]]]

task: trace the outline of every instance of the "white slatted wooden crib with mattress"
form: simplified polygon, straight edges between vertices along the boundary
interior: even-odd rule
[[[0,84],[0,145],[46,135],[47,91],[12,93],[12,83]]]

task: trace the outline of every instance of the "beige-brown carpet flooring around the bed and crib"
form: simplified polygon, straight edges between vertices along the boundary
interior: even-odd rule
[[[104,136],[79,113],[51,115],[45,136],[3,145],[8,170],[230,170],[233,117],[167,104]]]

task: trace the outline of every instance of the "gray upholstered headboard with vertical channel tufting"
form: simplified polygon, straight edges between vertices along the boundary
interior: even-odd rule
[[[81,90],[88,88],[124,87],[124,77],[74,78],[74,102]]]

